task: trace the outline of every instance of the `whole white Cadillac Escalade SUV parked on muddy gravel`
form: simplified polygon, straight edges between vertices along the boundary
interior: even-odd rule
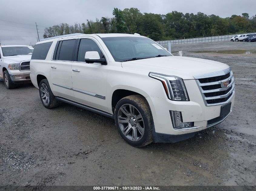
[[[173,56],[139,35],[44,39],[35,45],[30,68],[46,108],[62,101],[111,117],[136,147],[191,138],[221,123],[234,106],[228,65]]]

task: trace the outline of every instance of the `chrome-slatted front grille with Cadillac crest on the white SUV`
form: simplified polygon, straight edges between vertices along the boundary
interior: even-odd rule
[[[217,76],[212,76],[216,74]],[[206,78],[199,78],[198,76],[195,78],[206,106],[228,103],[234,96],[235,84],[230,68],[225,71],[202,75],[202,77]]]

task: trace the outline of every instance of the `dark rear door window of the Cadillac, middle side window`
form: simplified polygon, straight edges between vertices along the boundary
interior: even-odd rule
[[[56,60],[73,61],[76,39],[63,40],[58,45]]]

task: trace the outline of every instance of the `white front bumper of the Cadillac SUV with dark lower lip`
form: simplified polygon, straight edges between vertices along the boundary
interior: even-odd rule
[[[146,97],[155,126],[154,142],[177,142],[190,137],[198,131],[221,123],[231,113],[234,106],[234,94],[231,96],[230,112],[220,117],[221,106],[206,106],[201,92],[195,80],[185,80],[185,85],[189,94],[190,101],[172,101],[159,97]],[[173,128],[170,111],[180,111],[183,122],[194,122],[194,127],[186,129]],[[215,119],[215,121],[212,121]],[[218,120],[219,119],[219,120]],[[211,120],[211,125],[208,122]]]

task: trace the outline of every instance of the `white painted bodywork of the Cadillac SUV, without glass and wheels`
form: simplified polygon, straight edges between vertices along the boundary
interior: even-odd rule
[[[111,114],[113,114],[112,94],[115,90],[124,89],[137,92],[148,101],[154,120],[155,132],[158,133],[180,135],[199,131],[207,128],[207,120],[220,115],[221,105],[205,106],[203,97],[193,76],[225,70],[229,68],[228,65],[211,60],[178,56],[141,59],[122,63],[115,62],[100,37],[118,36],[138,37],[137,35],[131,34],[91,34],[72,37],[72,39],[90,38],[95,40],[106,58],[107,65],[52,61],[57,41],[71,37],[39,42],[53,41],[45,60],[31,61],[30,76],[32,83],[38,88],[37,75],[44,75],[48,79],[56,96],[61,96]],[[57,70],[55,70],[56,73],[51,66],[57,67]],[[78,69],[80,72],[74,72],[72,69]],[[161,81],[150,78],[148,76],[149,72],[175,75],[183,78],[190,101],[169,100]],[[54,82],[62,83],[62,85],[80,91],[99,94],[104,96],[105,99],[66,88],[57,88],[52,85]],[[234,96],[231,102],[232,108],[234,105]],[[171,123],[169,110],[181,111],[184,122],[192,121],[194,122],[194,126],[202,126],[202,128],[175,130]]]

